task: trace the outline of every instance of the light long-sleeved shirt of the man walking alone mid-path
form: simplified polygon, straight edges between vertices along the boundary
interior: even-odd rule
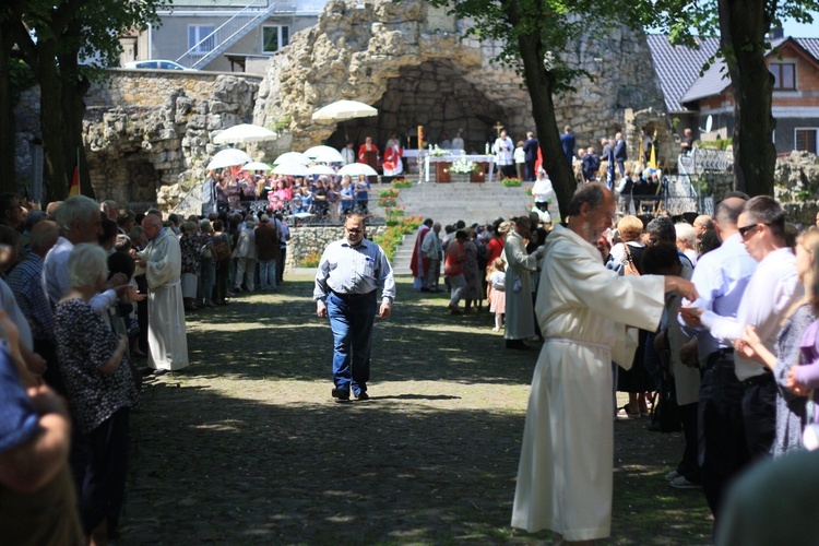
[[[331,290],[368,294],[379,286],[382,287],[382,301],[392,302],[395,299],[395,278],[381,247],[367,239],[351,247],[347,239],[341,239],[328,245],[321,254],[312,298],[325,301]]]

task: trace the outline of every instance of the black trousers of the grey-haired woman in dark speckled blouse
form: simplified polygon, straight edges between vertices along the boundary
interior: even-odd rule
[[[103,521],[112,531],[126,497],[131,410],[121,407],[86,435],[87,465],[80,494],[83,529],[90,535]]]

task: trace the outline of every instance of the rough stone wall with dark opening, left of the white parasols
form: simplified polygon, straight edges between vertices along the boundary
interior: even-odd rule
[[[122,74],[111,82],[93,95],[97,104],[83,122],[94,188],[117,202],[163,210],[204,179],[209,159],[224,147],[213,136],[252,120],[259,88],[246,75]]]

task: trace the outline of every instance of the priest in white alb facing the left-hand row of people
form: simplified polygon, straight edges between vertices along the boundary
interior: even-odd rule
[[[150,242],[138,254],[135,274],[145,273],[149,288],[147,364],[156,370],[178,370],[188,366],[179,241],[153,214],[142,221],[142,229]]]

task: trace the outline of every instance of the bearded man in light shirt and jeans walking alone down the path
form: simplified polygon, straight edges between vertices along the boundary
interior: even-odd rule
[[[395,280],[384,251],[365,239],[365,219],[351,214],[344,238],[324,249],[316,272],[316,313],[329,318],[333,331],[333,388],[339,402],[369,400],[370,349],[376,314],[390,316],[395,299]],[[377,289],[381,286],[381,305]]]

